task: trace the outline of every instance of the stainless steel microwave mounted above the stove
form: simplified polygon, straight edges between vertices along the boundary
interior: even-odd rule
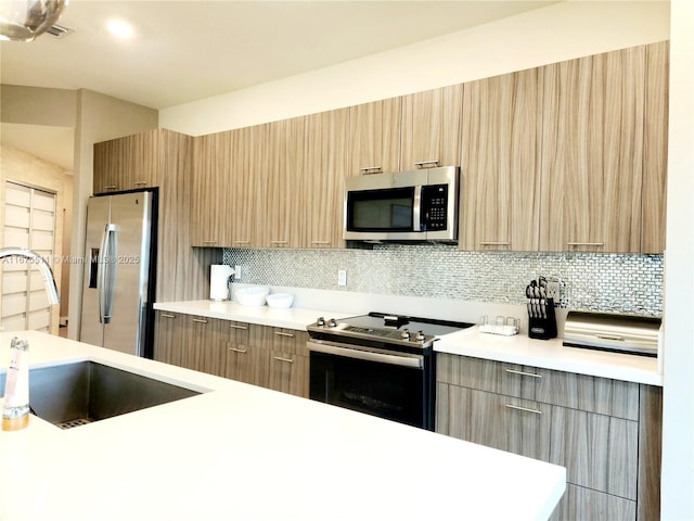
[[[345,240],[457,242],[460,168],[348,177]]]

